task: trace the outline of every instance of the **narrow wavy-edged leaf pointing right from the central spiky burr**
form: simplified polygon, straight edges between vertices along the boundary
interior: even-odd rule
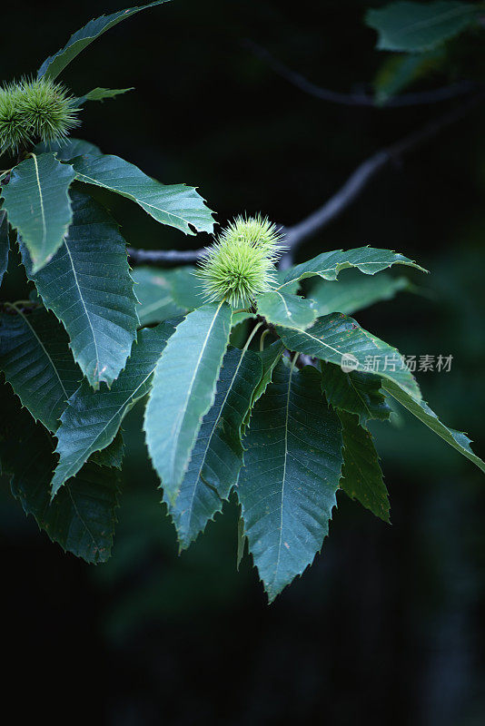
[[[376,250],[373,247],[359,247],[356,250],[334,250],[332,252],[322,252],[318,257],[314,257],[308,262],[302,262],[288,271],[284,282],[278,289],[285,289],[288,285],[296,280],[304,280],[319,275],[323,280],[337,280],[341,270],[348,267],[355,267],[361,270],[365,275],[375,275],[391,265],[410,265],[411,267],[426,272],[422,267],[404,255],[391,250]]]

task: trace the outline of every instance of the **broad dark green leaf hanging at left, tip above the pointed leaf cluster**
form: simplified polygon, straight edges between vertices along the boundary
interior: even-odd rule
[[[89,195],[72,191],[74,219],[62,248],[35,274],[22,246],[27,275],[71,338],[74,359],[94,388],[124,368],[138,318],[126,246],[111,215]]]

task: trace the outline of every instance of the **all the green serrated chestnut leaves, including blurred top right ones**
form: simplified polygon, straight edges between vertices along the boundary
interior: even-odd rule
[[[35,93],[113,25],[163,2],[85,25],[41,65]],[[401,52],[376,81],[376,103],[476,25],[477,8],[445,0],[370,11],[378,47]],[[69,113],[124,90],[73,97]],[[1,93],[9,108],[14,87]],[[15,133],[15,113],[5,114]],[[485,471],[470,439],[423,400],[400,352],[351,317],[408,288],[386,270],[425,271],[413,260],[366,246],[324,250],[275,271],[240,306],[230,294],[208,297],[192,267],[132,270],[116,221],[92,196],[102,187],[163,225],[212,233],[198,191],[158,182],[63,129],[53,139],[42,123],[32,128],[4,142],[11,163],[0,172],[0,278],[16,246],[31,287],[30,299],[0,309],[0,460],[25,513],[64,550],[89,563],[111,554],[130,456],[123,420],[137,402],[180,547],[237,497],[238,558],[247,542],[270,601],[312,564],[338,496],[389,521],[372,419],[405,407]],[[353,273],[340,281],[346,268]]]

